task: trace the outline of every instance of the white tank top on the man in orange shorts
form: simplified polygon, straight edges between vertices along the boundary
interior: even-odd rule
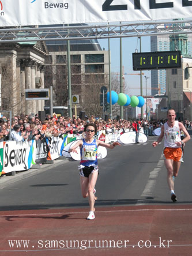
[[[175,121],[174,127],[168,126],[167,122],[164,123],[164,146],[167,148],[180,148],[176,142],[181,141],[179,121]]]

